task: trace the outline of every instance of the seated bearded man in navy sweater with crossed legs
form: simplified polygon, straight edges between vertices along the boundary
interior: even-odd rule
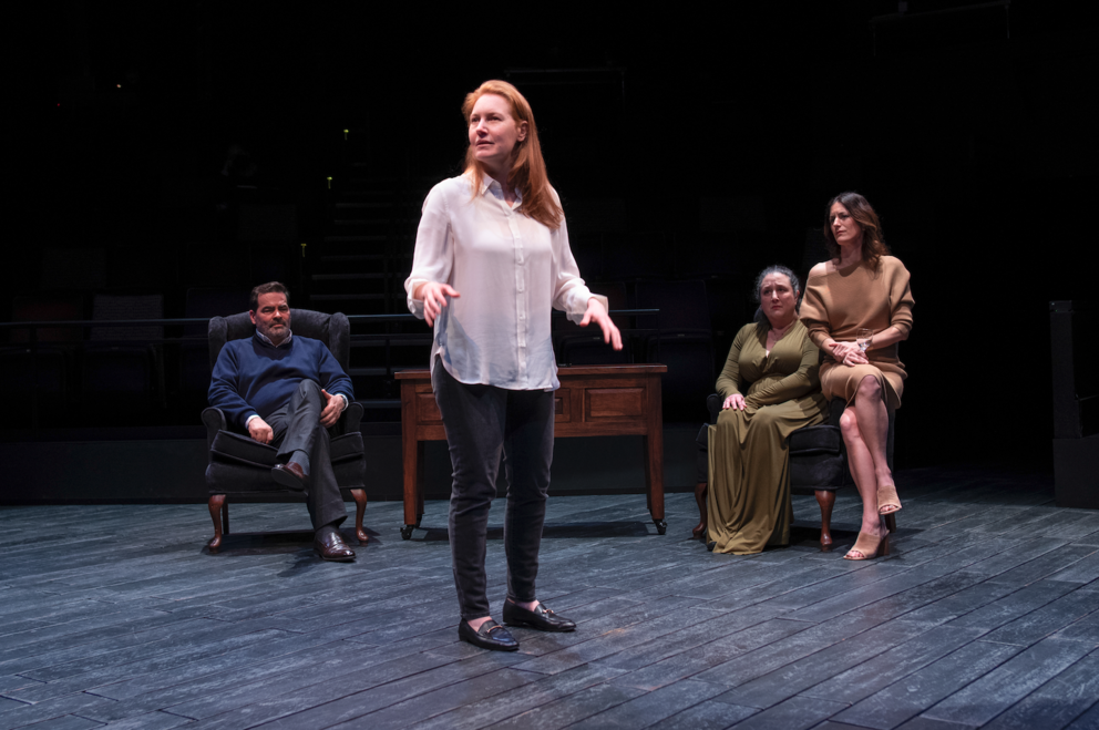
[[[355,552],[339,533],[347,520],[328,455],[328,426],[355,398],[351,379],[323,342],[290,333],[289,291],[278,281],[251,290],[254,337],[225,343],[214,366],[209,404],[259,443],[278,448],[271,477],[306,493],[314,549],[347,563]]]

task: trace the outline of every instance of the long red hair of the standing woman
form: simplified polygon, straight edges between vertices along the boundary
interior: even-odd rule
[[[485,94],[503,96],[512,106],[512,116],[516,122],[526,122],[526,138],[515,143],[512,169],[506,181],[500,181],[501,185],[511,184],[518,189],[523,198],[518,206],[518,212],[528,218],[534,218],[551,230],[561,227],[561,222],[565,214],[554,199],[553,191],[550,187],[550,178],[546,176],[546,162],[542,157],[542,145],[538,144],[538,127],[534,124],[534,112],[531,104],[518,89],[506,81],[486,81],[476,91],[465,95],[462,104],[462,116],[465,117],[466,125],[473,114],[473,105]],[[484,169],[476,161],[473,146],[465,151],[465,172],[473,176],[474,197],[481,192],[481,183],[484,181]]]

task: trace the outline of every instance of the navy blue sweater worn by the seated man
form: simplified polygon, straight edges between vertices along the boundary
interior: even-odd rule
[[[329,395],[355,400],[351,379],[320,340],[295,335],[271,347],[258,337],[230,340],[222,348],[209,383],[209,404],[222,409],[232,425],[244,429],[253,413],[266,419],[290,401],[302,380],[314,380]]]

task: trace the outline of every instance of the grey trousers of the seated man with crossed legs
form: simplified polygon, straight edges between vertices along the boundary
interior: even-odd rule
[[[347,520],[347,506],[328,454],[328,429],[320,424],[323,410],[320,385],[312,380],[302,380],[290,401],[264,419],[274,431],[271,445],[278,449],[279,461],[285,463],[295,451],[309,455],[310,484],[306,490],[306,506],[314,529],[329,524],[339,526]]]

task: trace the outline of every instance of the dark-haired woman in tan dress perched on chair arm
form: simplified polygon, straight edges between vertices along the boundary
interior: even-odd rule
[[[874,208],[857,193],[829,202],[824,236],[832,259],[809,273],[801,320],[824,352],[824,395],[842,398],[848,465],[862,497],[862,526],[852,561],[889,554],[884,515],[901,508],[885,460],[889,414],[900,408],[904,363],[897,346],[912,329],[908,270],[889,255]]]

